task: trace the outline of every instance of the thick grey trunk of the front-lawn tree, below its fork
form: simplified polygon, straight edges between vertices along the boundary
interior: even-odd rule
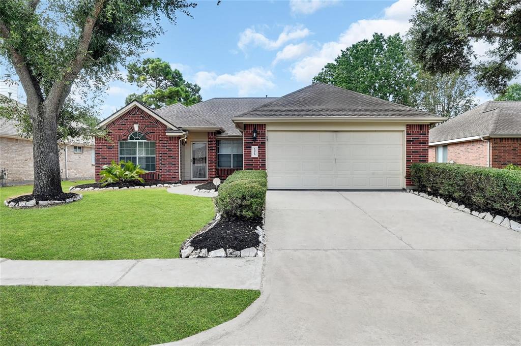
[[[54,107],[53,107],[54,108]],[[34,195],[62,193],[56,132],[57,109],[39,107],[33,122]]]

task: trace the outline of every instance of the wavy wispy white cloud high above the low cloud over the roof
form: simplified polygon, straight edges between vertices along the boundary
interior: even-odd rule
[[[249,28],[239,35],[237,46],[242,50],[249,45],[273,50],[280,48],[286,42],[304,39],[304,37],[307,37],[309,34],[311,34],[311,31],[302,27],[302,25],[287,25],[279,34],[277,40],[270,40],[264,34],[257,32],[255,28]]]

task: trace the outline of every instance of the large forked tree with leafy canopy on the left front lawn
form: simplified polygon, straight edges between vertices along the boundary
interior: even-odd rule
[[[186,0],[0,1],[0,55],[16,71],[32,123],[35,195],[60,193],[58,124],[72,87],[83,95],[117,75],[163,33]],[[69,123],[70,125],[71,123]]]

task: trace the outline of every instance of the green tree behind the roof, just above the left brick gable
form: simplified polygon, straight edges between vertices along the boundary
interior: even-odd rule
[[[137,99],[157,109],[177,102],[191,106],[203,100],[199,94],[199,85],[185,81],[178,69],[172,70],[170,64],[160,58],[147,58],[139,64],[131,63],[128,66],[127,80],[147,88],[142,94],[127,96],[127,103]]]

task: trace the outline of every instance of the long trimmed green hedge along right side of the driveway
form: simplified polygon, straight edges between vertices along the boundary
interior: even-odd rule
[[[414,163],[419,191],[502,216],[521,217],[521,171],[464,164]]]

